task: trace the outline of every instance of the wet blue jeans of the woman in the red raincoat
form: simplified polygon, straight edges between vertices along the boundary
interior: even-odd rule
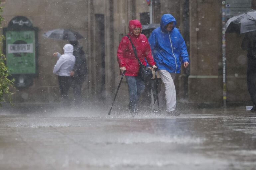
[[[129,90],[129,109],[131,112],[137,112],[138,108],[138,101],[139,97],[144,91],[145,84],[140,76],[125,76],[126,81],[128,83],[128,90]]]

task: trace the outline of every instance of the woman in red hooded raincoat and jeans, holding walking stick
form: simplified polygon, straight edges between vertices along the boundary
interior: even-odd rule
[[[138,58],[141,63],[146,66],[145,58],[149,65],[154,69],[155,61],[151,54],[151,48],[148,43],[148,39],[145,35],[141,34],[141,23],[138,20],[131,20],[129,22],[128,36],[131,38],[133,45],[136,48]],[[144,82],[139,76],[139,61],[135,57],[132,44],[127,36],[124,36],[118,46],[117,61],[120,67],[120,71],[124,72],[125,78],[128,83],[129,89],[129,109],[132,114],[137,114],[137,104],[139,96],[144,90]]]

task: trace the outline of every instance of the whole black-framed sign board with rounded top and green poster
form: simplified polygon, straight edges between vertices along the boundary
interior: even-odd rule
[[[11,75],[38,74],[38,28],[33,27],[29,19],[23,16],[13,18],[7,28],[4,54],[6,65]]]

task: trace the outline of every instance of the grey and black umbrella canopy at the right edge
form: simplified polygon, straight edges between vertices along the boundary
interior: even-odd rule
[[[226,32],[245,33],[256,30],[256,10],[230,18],[224,26]]]

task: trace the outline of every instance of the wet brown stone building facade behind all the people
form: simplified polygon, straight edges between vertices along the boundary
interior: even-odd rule
[[[189,70],[176,78],[178,100],[189,103],[222,104],[222,23],[221,0],[152,0],[153,23],[160,23],[165,13],[177,20],[190,54]],[[255,0],[251,1],[252,8]],[[56,28],[80,32],[88,63],[83,95],[107,100],[116,90],[119,77],[116,51],[128,31],[128,22],[139,19],[147,24],[146,0],[6,0],[2,16],[8,22],[25,16],[38,27],[38,71],[33,85],[20,88],[15,102],[58,101],[59,87],[52,70],[57,61],[52,54],[62,52],[68,41],[48,39],[42,34]],[[227,102],[250,103],[246,86],[246,52],[240,48],[243,35],[229,33],[227,38]],[[125,82],[125,81],[124,81]],[[127,96],[120,89],[120,98]],[[128,100],[128,97],[125,97]]]

